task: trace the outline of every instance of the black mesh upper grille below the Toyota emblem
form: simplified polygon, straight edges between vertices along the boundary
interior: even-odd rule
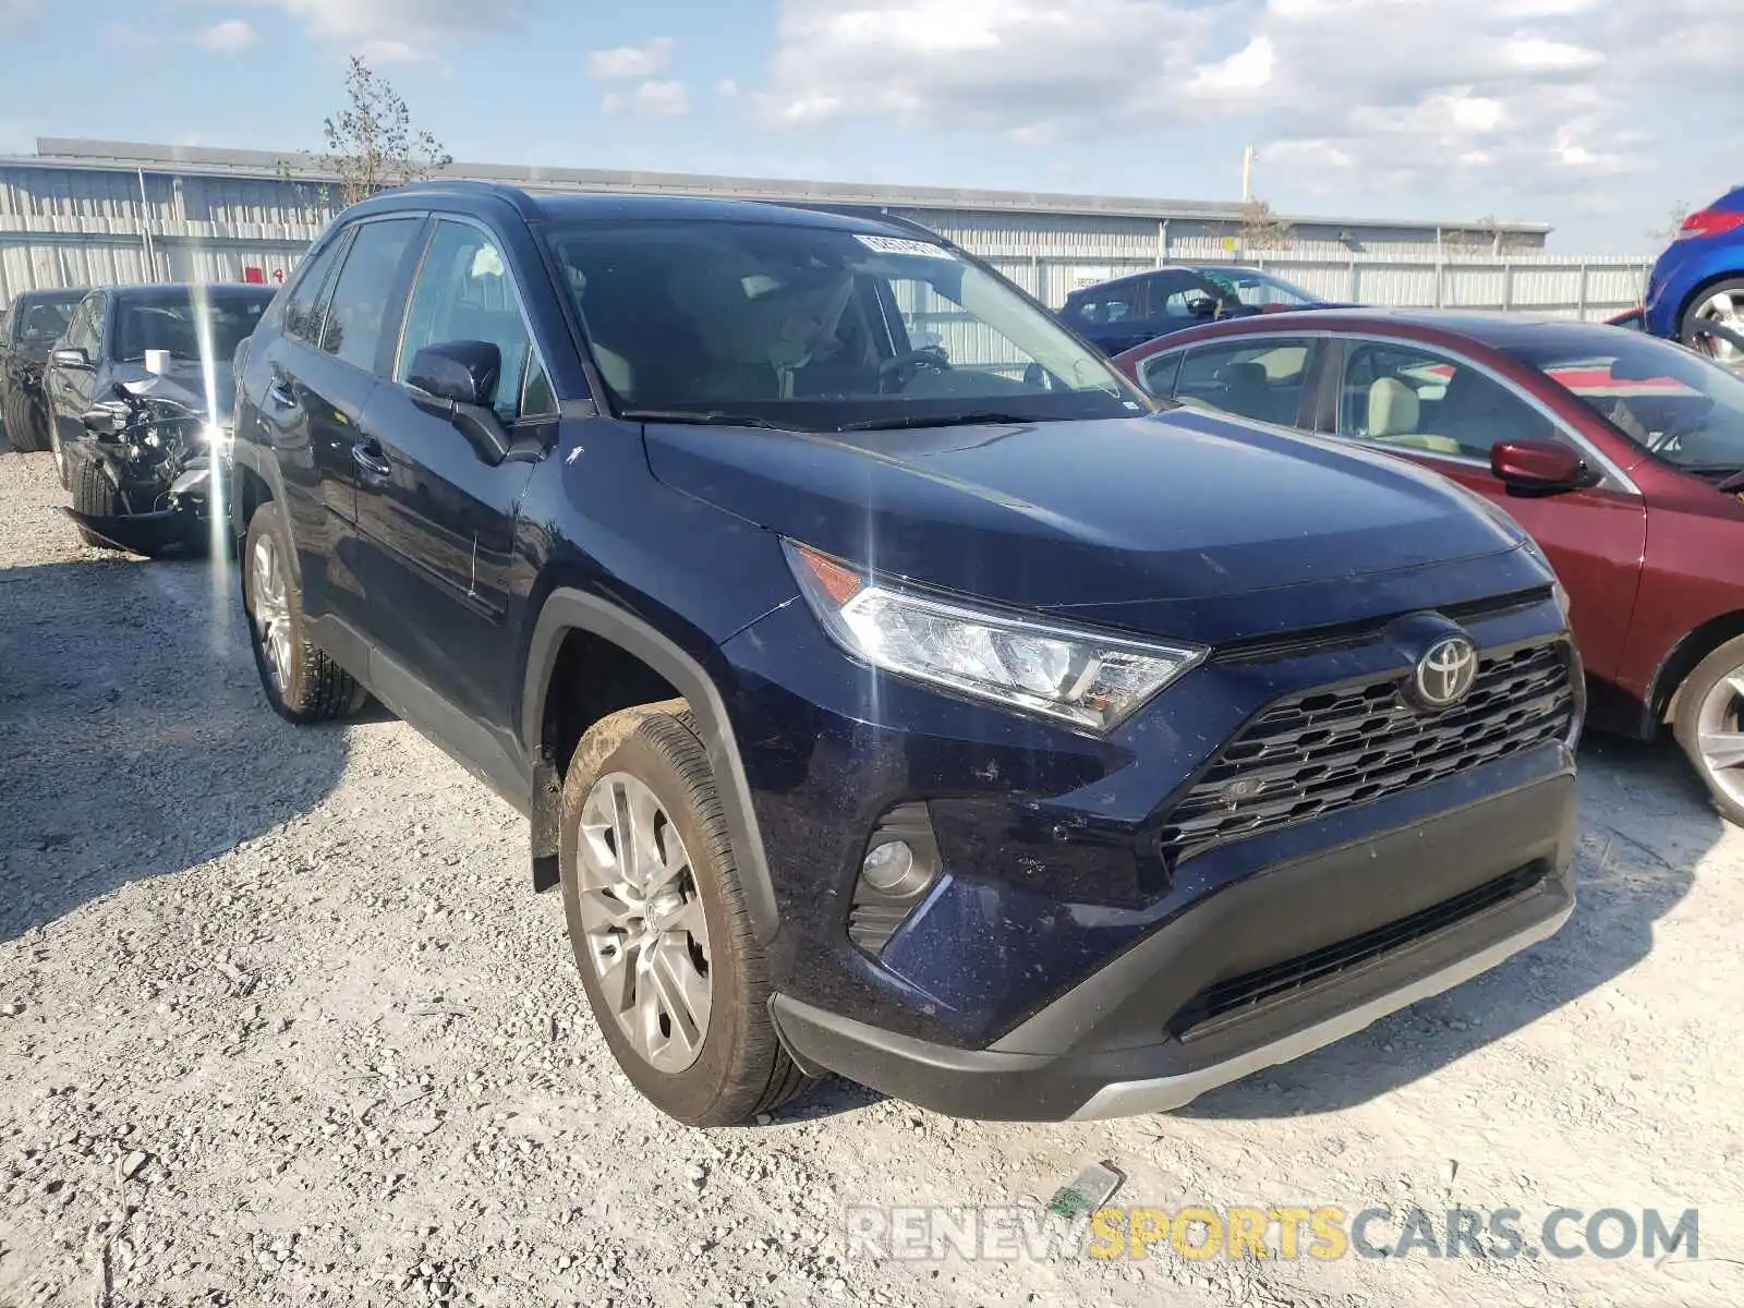
[[[1472,692],[1442,713],[1406,705],[1402,677],[1310,691],[1261,713],[1170,811],[1162,853],[1189,858],[1367,804],[1564,739],[1573,726],[1575,687],[1561,640],[1484,654]]]

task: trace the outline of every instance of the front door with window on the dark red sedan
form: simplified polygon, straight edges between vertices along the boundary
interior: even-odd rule
[[[1646,544],[1641,497],[1608,476],[1587,490],[1521,495],[1489,471],[1498,441],[1554,441],[1603,467],[1578,436],[1477,363],[1404,340],[1345,342],[1338,433],[1413,459],[1507,509],[1568,591],[1587,670],[1617,671]]]

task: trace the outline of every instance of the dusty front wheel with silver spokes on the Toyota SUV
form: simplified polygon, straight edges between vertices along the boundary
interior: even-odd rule
[[[652,849],[659,856],[656,872],[668,877],[664,893],[652,896],[645,893],[649,882],[640,882],[640,910],[603,889],[614,886],[631,898],[637,893],[616,860],[616,837],[598,825],[603,813],[617,811],[617,795],[644,794],[635,787],[657,804],[656,816],[647,807],[640,814],[647,818],[644,832],[652,832],[644,853]],[[624,809],[635,814],[635,800]],[[591,834],[582,830],[584,821]],[[687,1127],[729,1127],[811,1085],[769,1020],[769,961],[752,935],[708,752],[682,701],[630,708],[588,731],[563,778],[558,863],[576,970],[600,1034],[624,1076],[657,1109]],[[698,909],[703,940],[696,937]],[[621,930],[609,923],[612,914],[623,919]],[[645,935],[624,944],[651,923],[656,944],[645,944]],[[645,959],[647,978],[640,970]],[[652,980],[661,964],[664,987]],[[673,985],[685,992],[677,975],[692,987],[701,977],[701,991],[687,996],[706,996],[699,1032],[692,1031],[696,1022],[675,1020],[673,1005],[661,1006],[661,996],[675,994]],[[623,991],[614,1005],[607,987],[617,991],[619,980]],[[694,1006],[687,1005],[687,1012],[694,1017]],[[651,1020],[651,1013],[659,1017]],[[637,1029],[649,1036],[633,1036]],[[651,1053],[651,1046],[657,1052]]]

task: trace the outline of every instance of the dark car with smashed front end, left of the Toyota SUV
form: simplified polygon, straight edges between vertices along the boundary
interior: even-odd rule
[[[87,544],[157,556],[209,539],[213,459],[228,448],[232,361],[265,286],[124,286],[87,295],[49,356],[51,446]]]

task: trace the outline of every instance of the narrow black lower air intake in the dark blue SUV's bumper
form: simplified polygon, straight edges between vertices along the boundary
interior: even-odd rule
[[[1467,917],[1475,917],[1486,909],[1526,893],[1543,881],[1543,863],[1526,863],[1463,895],[1454,895],[1451,900],[1442,900],[1409,917],[1400,917],[1397,923],[1378,926],[1373,931],[1364,931],[1350,940],[1341,940],[1336,945],[1327,945],[1325,949],[1317,949],[1284,963],[1273,963],[1270,968],[1259,968],[1257,971],[1217,982],[1193,996],[1168,1020],[1168,1032],[1177,1038],[1186,1036],[1195,1027],[1203,1027],[1219,1018],[1240,1017],[1249,1010],[1284,999],[1327,977],[1359,968],[1371,959],[1423,940],[1435,931],[1463,923]]]

